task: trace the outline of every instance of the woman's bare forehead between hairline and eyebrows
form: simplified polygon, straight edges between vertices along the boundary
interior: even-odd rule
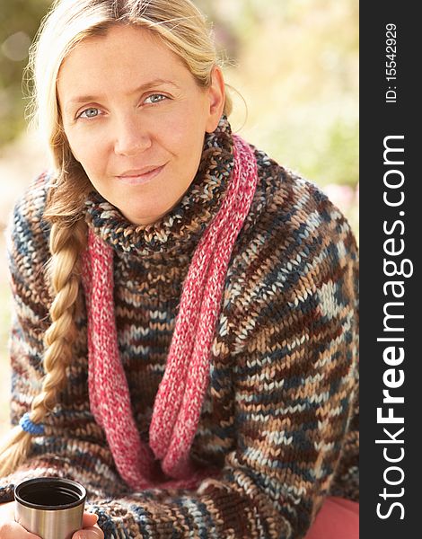
[[[132,81],[142,84],[156,79],[182,84],[191,82],[193,76],[180,57],[152,32],[119,25],[76,45],[60,66],[57,90],[59,96],[75,89],[94,92],[104,85],[119,90]]]

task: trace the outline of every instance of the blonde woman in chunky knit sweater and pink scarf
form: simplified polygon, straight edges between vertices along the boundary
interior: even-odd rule
[[[324,500],[356,532],[344,216],[233,136],[189,0],[58,1],[32,59],[54,167],[13,216],[0,536],[42,475],[87,488],[74,538],[303,537]]]

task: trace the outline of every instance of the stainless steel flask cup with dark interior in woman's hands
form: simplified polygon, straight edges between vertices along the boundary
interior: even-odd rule
[[[42,539],[71,539],[82,528],[86,490],[78,482],[40,477],[14,489],[14,519]]]

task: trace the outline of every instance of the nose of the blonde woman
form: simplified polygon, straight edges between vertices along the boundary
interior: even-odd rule
[[[151,137],[139,119],[125,116],[115,128],[114,152],[117,155],[136,155],[151,146]]]

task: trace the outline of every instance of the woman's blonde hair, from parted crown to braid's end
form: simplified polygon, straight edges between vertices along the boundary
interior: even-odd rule
[[[84,199],[92,190],[84,169],[66,140],[57,102],[57,76],[78,43],[105,35],[112,25],[136,24],[154,32],[177,54],[197,84],[207,88],[219,60],[212,31],[190,0],[56,0],[30,50],[28,74],[33,84],[31,121],[47,143],[54,166],[44,218],[51,224],[48,280],[54,296],[51,325],[45,334],[42,389],[31,403],[30,418],[42,423],[66,384],[66,367],[75,339],[75,305],[80,288],[80,253],[84,249]],[[224,114],[232,101],[226,93]],[[31,451],[32,435],[13,428],[0,449],[0,475],[12,473]]]

